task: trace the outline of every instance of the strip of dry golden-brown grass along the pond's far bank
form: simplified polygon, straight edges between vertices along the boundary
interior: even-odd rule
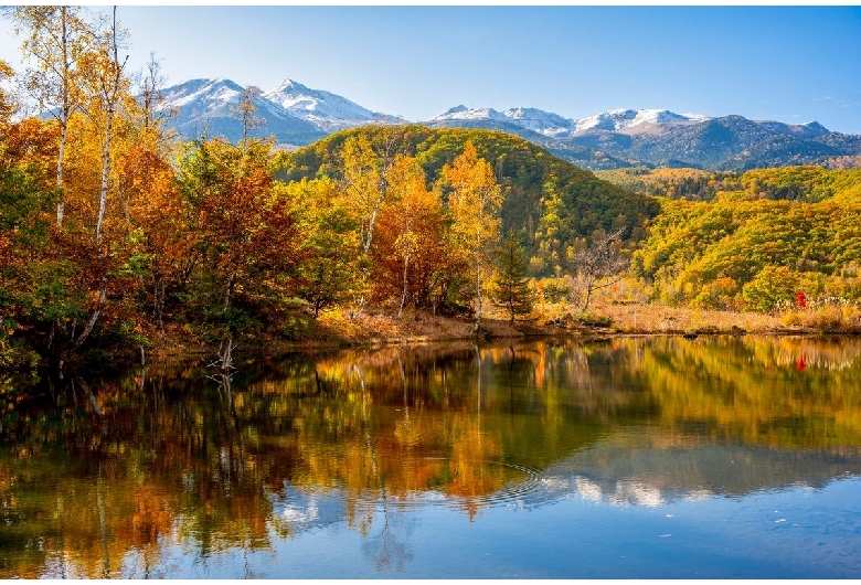
[[[665,307],[650,304],[613,304],[598,301],[588,311],[591,321],[604,318],[607,327],[585,327],[564,305],[544,306],[540,311],[518,320],[513,326],[502,311],[490,308],[482,327],[491,338],[527,336],[589,336],[589,334],[683,334],[683,333],[861,333],[861,311],[855,308],[787,311],[780,315],[713,311],[684,307]],[[372,308],[351,320],[347,311],[336,310],[320,315],[313,322],[305,320],[306,331],[293,341],[266,336],[257,349],[288,351],[322,347],[349,345],[419,345],[437,341],[475,339],[474,321],[467,318],[433,316],[427,311],[405,310],[398,318],[396,310]],[[156,354],[206,353],[206,348],[181,328],[160,333],[153,340]],[[247,345],[247,343],[245,343]]]

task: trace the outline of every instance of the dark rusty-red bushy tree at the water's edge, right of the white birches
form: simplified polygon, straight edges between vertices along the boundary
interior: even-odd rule
[[[194,140],[179,159],[178,183],[190,206],[200,262],[190,278],[189,308],[208,332],[230,341],[277,307],[296,270],[296,211],[274,188],[272,146]]]

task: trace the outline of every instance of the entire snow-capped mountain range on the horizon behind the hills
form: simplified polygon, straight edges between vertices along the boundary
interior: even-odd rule
[[[184,136],[205,131],[235,141],[242,136],[242,127],[232,108],[242,91],[223,77],[190,79],[163,91],[163,107],[179,111],[171,126]],[[368,124],[419,124],[513,134],[591,170],[630,166],[745,170],[819,164],[829,158],[861,156],[859,135],[835,132],[818,121],[793,125],[740,115],[714,117],[669,109],[617,108],[574,119],[525,106],[499,110],[458,105],[429,120],[411,123],[290,78],[262,92],[255,105],[264,126],[251,136],[274,136],[285,147],[306,146]]]

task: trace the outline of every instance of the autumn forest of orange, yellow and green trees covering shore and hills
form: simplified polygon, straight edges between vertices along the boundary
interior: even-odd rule
[[[188,139],[158,62],[127,71],[115,19],[10,15],[30,67],[0,61],[0,368],[166,339],[227,360],[369,311],[479,336],[489,318],[613,327],[630,304],[861,329],[861,170],[593,174],[502,132],[416,125],[290,150],[248,137],[254,87],[246,138]]]

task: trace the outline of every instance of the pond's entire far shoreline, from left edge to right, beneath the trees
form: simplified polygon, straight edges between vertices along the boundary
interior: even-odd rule
[[[542,317],[543,316],[543,317]],[[553,316],[548,317],[548,316]],[[501,318],[500,318],[501,317]],[[474,334],[475,320],[467,317],[434,316],[424,310],[394,311],[374,308],[351,320],[340,310],[320,315],[317,320],[300,316],[291,323],[269,323],[267,331],[235,339],[235,355],[272,358],[288,353],[320,353],[347,349],[417,347],[429,343],[524,339],[582,339],[613,337],[773,336],[773,337],[852,337],[861,334],[861,319],[854,313],[823,319],[821,311],[780,315],[713,311],[661,305],[598,304],[583,319],[562,307],[545,307],[541,316],[515,320],[513,325],[498,312],[481,319],[482,334]],[[280,327],[280,329],[278,329]],[[145,345],[94,347],[70,362],[77,366],[100,368],[140,364],[160,360],[212,361],[219,347],[194,337],[179,323],[162,331],[149,331]],[[0,355],[2,358],[2,355]],[[56,365],[57,358],[22,353],[19,359],[0,363],[0,372],[44,370]]]

